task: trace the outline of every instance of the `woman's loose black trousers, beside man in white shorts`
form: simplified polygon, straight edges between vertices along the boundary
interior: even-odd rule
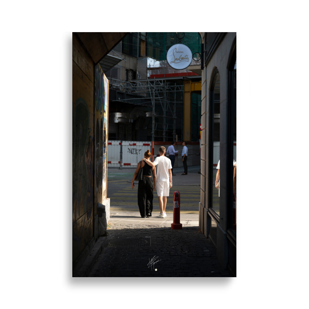
[[[138,180],[138,208],[141,217],[152,213],[152,201],[154,198],[154,182],[152,177],[143,177]]]

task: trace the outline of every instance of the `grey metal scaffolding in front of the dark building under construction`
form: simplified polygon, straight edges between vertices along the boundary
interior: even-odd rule
[[[134,95],[133,98],[116,99],[115,101],[142,105],[152,108],[152,141],[156,138],[163,142],[176,141],[176,107],[183,104],[184,85],[169,79],[145,79],[121,81],[111,78],[110,89]],[[181,120],[182,121],[182,120]]]

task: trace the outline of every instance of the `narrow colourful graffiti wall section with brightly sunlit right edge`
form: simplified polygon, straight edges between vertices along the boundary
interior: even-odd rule
[[[96,201],[106,199],[108,138],[108,79],[95,67],[95,190]]]

